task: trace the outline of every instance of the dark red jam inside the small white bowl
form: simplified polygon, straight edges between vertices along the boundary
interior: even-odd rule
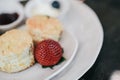
[[[10,24],[18,19],[17,13],[2,13],[0,14],[0,25]]]

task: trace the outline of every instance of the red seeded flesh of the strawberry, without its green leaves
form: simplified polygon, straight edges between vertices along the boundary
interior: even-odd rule
[[[52,66],[59,62],[63,54],[62,47],[54,40],[39,42],[35,48],[35,58],[43,66]]]

